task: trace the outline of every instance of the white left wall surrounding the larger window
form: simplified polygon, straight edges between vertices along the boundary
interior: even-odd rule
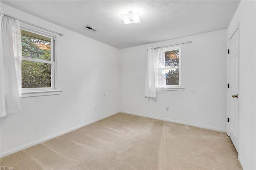
[[[5,4],[1,8],[20,20],[64,33],[57,37],[56,66],[63,92],[22,98],[20,113],[1,118],[1,156],[120,110],[119,49]]]

